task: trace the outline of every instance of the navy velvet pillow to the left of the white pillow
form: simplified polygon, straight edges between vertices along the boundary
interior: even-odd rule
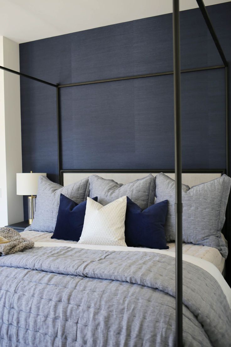
[[[98,197],[93,200],[97,201]],[[51,238],[59,240],[79,241],[83,230],[87,201],[80,204],[60,194],[59,212],[54,234]]]

